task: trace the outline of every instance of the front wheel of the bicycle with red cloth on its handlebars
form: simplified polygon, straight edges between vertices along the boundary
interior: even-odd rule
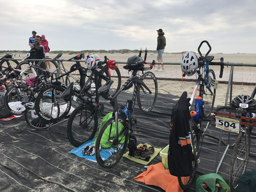
[[[109,72],[111,74],[111,77],[108,74],[108,65],[105,65],[102,70],[101,70],[101,74],[99,75],[99,87],[101,87],[103,84],[105,84],[108,80],[113,80],[113,84],[111,85],[111,88],[109,90],[109,94],[111,96],[114,96],[116,94],[116,92],[120,89],[121,87],[121,73],[118,69],[118,67],[116,67],[116,69],[111,70],[109,68]],[[104,99],[108,99],[108,97],[106,95],[102,95],[102,97]]]

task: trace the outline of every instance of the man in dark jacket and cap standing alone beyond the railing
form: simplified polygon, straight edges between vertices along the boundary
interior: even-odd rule
[[[163,36],[164,32],[163,29],[158,29],[157,30],[157,62],[161,62],[162,69],[160,69],[160,65],[158,65],[157,69],[155,71],[161,71],[164,72],[164,67],[163,67],[163,52],[164,48],[166,47],[166,38]]]

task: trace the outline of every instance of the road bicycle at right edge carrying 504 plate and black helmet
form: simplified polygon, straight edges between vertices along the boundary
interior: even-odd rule
[[[256,101],[255,89],[251,96],[236,96],[232,101],[232,106],[217,108],[212,113],[217,128],[225,131],[238,133],[236,142],[230,145],[233,151],[230,172],[229,186],[232,192],[238,186],[238,180],[246,171],[250,154],[250,134],[253,127],[256,127]]]

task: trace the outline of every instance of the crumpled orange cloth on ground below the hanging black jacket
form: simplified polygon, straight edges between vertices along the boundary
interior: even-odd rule
[[[169,169],[164,169],[163,163],[148,166],[146,172],[141,173],[134,179],[146,185],[159,186],[166,192],[183,192],[178,177],[171,175]]]

